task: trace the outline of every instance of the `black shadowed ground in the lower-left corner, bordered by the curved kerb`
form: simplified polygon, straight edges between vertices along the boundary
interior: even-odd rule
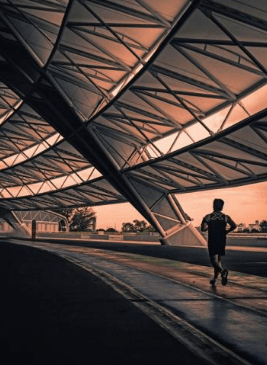
[[[131,301],[56,255],[1,242],[0,280],[8,365],[203,364]]]

